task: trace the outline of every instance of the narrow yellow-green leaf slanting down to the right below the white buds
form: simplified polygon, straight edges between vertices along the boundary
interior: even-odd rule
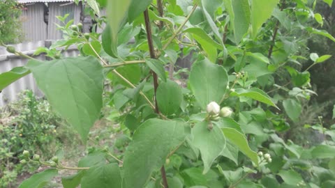
[[[251,150],[248,146],[248,141],[246,140],[246,136],[238,132],[233,128],[222,128],[223,134],[225,134],[225,138],[228,139],[232,144],[237,146],[241,152],[244,153],[247,157],[251,159],[254,164],[258,165],[258,157],[257,153]]]

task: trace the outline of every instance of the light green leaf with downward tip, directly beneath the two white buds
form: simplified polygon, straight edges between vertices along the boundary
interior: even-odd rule
[[[211,164],[225,149],[225,136],[222,131],[216,125],[212,125],[213,129],[209,130],[209,123],[211,122],[202,121],[197,123],[191,131],[193,146],[200,150],[201,159],[204,162],[203,174],[211,169]]]

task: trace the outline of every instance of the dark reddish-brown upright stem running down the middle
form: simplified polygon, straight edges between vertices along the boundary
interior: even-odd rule
[[[159,8],[159,6],[158,6]],[[148,45],[149,45],[149,53],[151,58],[157,58],[155,51],[154,51],[154,43],[152,42],[152,36],[151,36],[151,26],[150,26],[150,20],[149,20],[149,14],[148,14],[148,9],[144,11],[144,22],[145,22],[145,29],[147,31],[147,40],[148,40]],[[152,75],[154,77],[154,98],[155,98],[155,112],[160,113],[158,109],[158,104],[156,100],[156,91],[158,88],[158,77],[155,72],[152,72]],[[166,173],[165,173],[165,168],[164,165],[161,167],[161,175],[163,179],[163,185],[164,188],[168,188],[168,179],[166,178]]]

